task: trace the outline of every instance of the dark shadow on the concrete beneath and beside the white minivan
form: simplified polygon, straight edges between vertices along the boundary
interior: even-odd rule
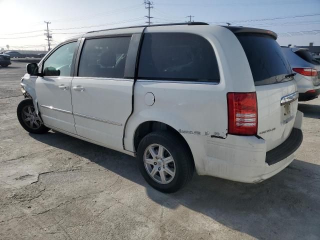
[[[183,205],[259,239],[320,238],[319,165],[294,160],[277,175],[257,184],[194,174],[185,188],[164,194],[144,181],[131,156],[58,132],[30,136],[143,185],[148,196],[165,207]]]

